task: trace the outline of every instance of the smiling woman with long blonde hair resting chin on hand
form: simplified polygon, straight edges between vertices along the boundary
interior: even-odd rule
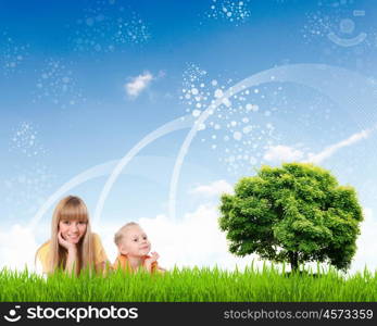
[[[56,205],[51,224],[51,239],[36,253],[43,273],[62,268],[78,275],[84,268],[104,274],[108,256],[98,235],[90,230],[89,214],[81,199],[63,198]]]

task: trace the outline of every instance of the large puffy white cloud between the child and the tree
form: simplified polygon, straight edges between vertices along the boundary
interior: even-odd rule
[[[164,215],[140,218],[139,223],[159,252],[160,264],[172,268],[217,265],[234,269],[251,264],[255,255],[236,258],[228,252],[226,235],[218,228],[218,212],[214,205],[200,205],[183,220],[172,222]]]

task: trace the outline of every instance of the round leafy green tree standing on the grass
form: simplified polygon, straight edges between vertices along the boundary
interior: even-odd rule
[[[263,166],[221,198],[219,227],[229,251],[256,253],[292,271],[310,261],[350,267],[363,221],[355,190],[324,168],[305,163]]]

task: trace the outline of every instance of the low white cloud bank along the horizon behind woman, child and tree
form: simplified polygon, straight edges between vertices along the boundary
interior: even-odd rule
[[[369,271],[377,269],[377,221],[370,209],[365,209],[365,221],[362,234],[357,239],[357,252],[352,263],[351,273],[363,271],[367,265]],[[138,222],[147,231],[152,250],[160,254],[160,265],[172,268],[217,265],[221,268],[234,269],[236,265],[242,269],[255,260],[255,266],[262,262],[254,254],[237,258],[229,253],[226,234],[218,228],[218,211],[215,205],[202,204],[194,212],[187,213],[172,222],[164,215],[154,218],[140,218]],[[117,249],[113,242],[115,231],[125,223],[103,221],[100,229],[95,229],[101,237],[103,247],[111,262],[114,262]],[[34,258],[38,247],[47,240],[48,225],[45,236],[39,241],[32,229],[14,225],[10,229],[0,229],[0,268],[3,266],[23,269],[25,265],[34,269]],[[38,236],[39,238],[40,236]],[[315,267],[316,264],[313,265]]]

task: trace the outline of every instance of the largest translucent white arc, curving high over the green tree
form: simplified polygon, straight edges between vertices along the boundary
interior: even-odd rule
[[[316,74],[313,74],[316,73]],[[337,82],[348,83],[347,90],[343,88],[339,89],[338,84],[329,82],[330,79],[336,79]],[[347,82],[345,82],[347,80]],[[176,160],[176,164],[174,165],[174,171],[171,179],[171,191],[168,198],[168,216],[171,220],[175,220],[176,214],[176,193],[177,193],[177,185],[178,178],[180,175],[180,170],[185,156],[188,152],[188,149],[191,145],[193,137],[196,136],[199,126],[202,125],[205,120],[210,116],[211,112],[216,110],[224,101],[224,99],[228,99],[229,97],[238,93],[239,91],[250,88],[253,86],[257,86],[265,83],[297,83],[302,84],[304,86],[312,87],[314,89],[318,89],[323,93],[327,95],[330,99],[335,99],[337,103],[343,106],[349,106],[350,103],[354,104],[354,109],[367,106],[364,97],[356,92],[356,90],[362,90],[361,85],[365,85],[365,77],[343,70],[325,64],[293,64],[293,65],[285,65],[280,67],[271,68],[267,71],[260,72],[254,74],[235,86],[230,87],[224,93],[223,98],[217,99],[213,104],[208,106],[205,111],[199,116],[198,121],[193,125],[193,127],[188,133],[186,139],[184,140],[183,146],[180,147],[179,154]],[[370,85],[367,85],[370,87]],[[372,89],[370,93],[375,96],[375,102],[377,102],[377,97],[375,91]],[[357,101],[357,102],[356,102]],[[355,110],[351,110],[351,114]],[[354,115],[355,116],[355,115]],[[356,116],[355,116],[356,117]],[[357,118],[360,118],[357,116]]]

